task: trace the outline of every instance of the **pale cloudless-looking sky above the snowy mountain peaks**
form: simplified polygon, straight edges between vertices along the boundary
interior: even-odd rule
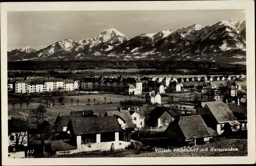
[[[243,21],[244,10],[12,11],[7,13],[8,50],[45,48],[69,37],[94,38],[115,28],[129,38],[192,24]]]

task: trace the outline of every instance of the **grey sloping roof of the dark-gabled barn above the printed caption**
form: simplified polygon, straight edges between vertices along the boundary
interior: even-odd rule
[[[186,139],[215,136],[214,131],[207,127],[201,115],[180,117],[178,124]]]

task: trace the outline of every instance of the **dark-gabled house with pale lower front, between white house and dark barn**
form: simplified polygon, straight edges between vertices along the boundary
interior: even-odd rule
[[[155,107],[148,115],[147,125],[153,129],[166,128],[174,120],[172,113],[163,107]]]

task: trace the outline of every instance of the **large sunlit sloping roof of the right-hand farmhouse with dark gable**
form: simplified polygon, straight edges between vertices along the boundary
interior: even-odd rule
[[[210,109],[211,113],[214,115],[218,122],[237,120],[236,117],[234,117],[228,104],[222,101],[207,102],[204,107],[208,107]]]

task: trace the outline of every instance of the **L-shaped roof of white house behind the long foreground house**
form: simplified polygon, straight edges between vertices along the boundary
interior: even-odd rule
[[[107,111],[105,115],[106,116],[117,115],[125,121],[125,128],[134,128],[133,119],[129,110],[122,110],[122,112],[120,112],[119,110],[111,110],[111,111]]]

